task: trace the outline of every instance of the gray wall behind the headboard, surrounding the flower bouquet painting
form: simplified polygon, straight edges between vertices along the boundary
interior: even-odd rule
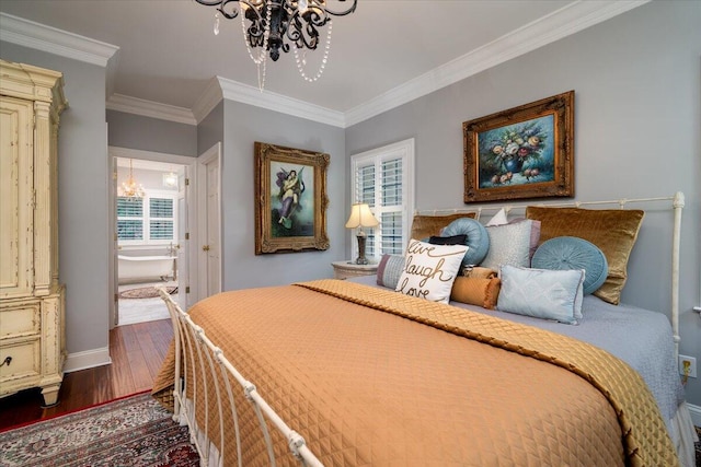
[[[416,139],[416,208],[462,203],[472,118],[575,90],[576,199],[686,194],[681,353],[701,363],[701,2],[652,2],[348,128],[346,153]],[[349,171],[346,167],[346,184]],[[668,312],[668,227],[648,212],[623,300]],[[701,406],[701,380],[687,396]]]

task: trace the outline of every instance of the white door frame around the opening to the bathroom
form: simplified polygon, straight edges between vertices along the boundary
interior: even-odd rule
[[[162,152],[152,152],[152,151],[142,151],[142,150],[137,150],[137,149],[129,149],[129,148],[120,148],[120,147],[114,147],[114,145],[110,145],[107,147],[107,151],[108,151],[108,155],[110,155],[110,161],[111,164],[110,166],[112,167],[115,164],[115,160],[116,157],[124,157],[124,159],[134,159],[134,160],[143,160],[143,161],[154,161],[154,162],[164,162],[164,163],[170,163],[170,164],[179,164],[179,165],[185,165],[188,167],[188,172],[189,172],[189,189],[191,189],[191,194],[195,194],[197,192],[197,159],[196,157],[188,157],[186,155],[177,155],[177,154],[166,154],[166,153],[162,153]],[[116,202],[116,196],[117,196],[117,191],[116,191],[116,187],[117,187],[117,183],[114,179],[116,175],[114,174],[114,172],[111,170],[110,171],[110,206],[113,207]],[[189,278],[193,277],[197,277],[197,257],[196,257],[196,252],[194,252],[194,248],[191,248],[189,245],[197,245],[197,240],[193,240],[193,235],[196,235],[197,232],[197,223],[196,223],[196,219],[197,219],[197,203],[195,202],[195,199],[193,199],[193,196],[189,196],[187,198],[187,230],[189,231],[191,235],[189,235],[189,241],[185,241],[185,235],[183,232],[180,232],[179,237],[181,238],[180,244],[181,247],[183,245],[185,245],[185,248],[187,248],[187,255],[188,255],[188,259],[189,259],[189,273],[187,275]],[[111,258],[116,258],[117,255],[117,242],[114,241],[114,238],[116,238],[117,232],[116,232],[116,224],[117,224],[117,220],[116,220],[116,210],[114,208],[112,208],[112,215],[110,217],[110,229],[108,229],[108,235],[110,235],[110,244],[111,244]],[[116,260],[116,259],[115,259]],[[115,324],[116,324],[116,319],[117,319],[117,311],[116,311],[116,304],[117,304],[117,278],[116,278],[116,273],[117,273],[117,268],[116,265],[114,265],[114,267],[110,268],[110,291],[108,291],[108,314],[110,314],[110,329],[113,329]],[[182,279],[182,278],[181,278]],[[179,279],[180,280],[180,279]],[[183,287],[187,287],[187,284],[182,284]],[[192,300],[192,299],[191,299]],[[188,300],[188,302],[191,301]]]

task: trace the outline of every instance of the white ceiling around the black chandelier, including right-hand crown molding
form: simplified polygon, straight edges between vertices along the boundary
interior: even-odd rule
[[[644,2],[359,0],[355,13],[334,19],[319,81],[304,81],[294,54],[281,54],[268,60],[262,96],[341,115],[379,113]],[[215,8],[194,0],[2,0],[0,12],[117,46],[108,102],[193,109],[215,77],[257,93],[239,17],[222,19],[215,36]],[[308,74],[321,55],[310,54]]]

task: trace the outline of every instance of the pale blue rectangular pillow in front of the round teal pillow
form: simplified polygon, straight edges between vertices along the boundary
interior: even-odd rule
[[[576,325],[582,319],[584,269],[502,266],[496,310]]]

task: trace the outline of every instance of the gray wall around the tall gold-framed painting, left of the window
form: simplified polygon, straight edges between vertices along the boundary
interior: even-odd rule
[[[344,130],[232,101],[223,106],[222,288],[244,289],[333,277],[331,262],[345,252],[346,159]],[[326,174],[325,252],[255,256],[253,143],[255,141],[331,154]]]

